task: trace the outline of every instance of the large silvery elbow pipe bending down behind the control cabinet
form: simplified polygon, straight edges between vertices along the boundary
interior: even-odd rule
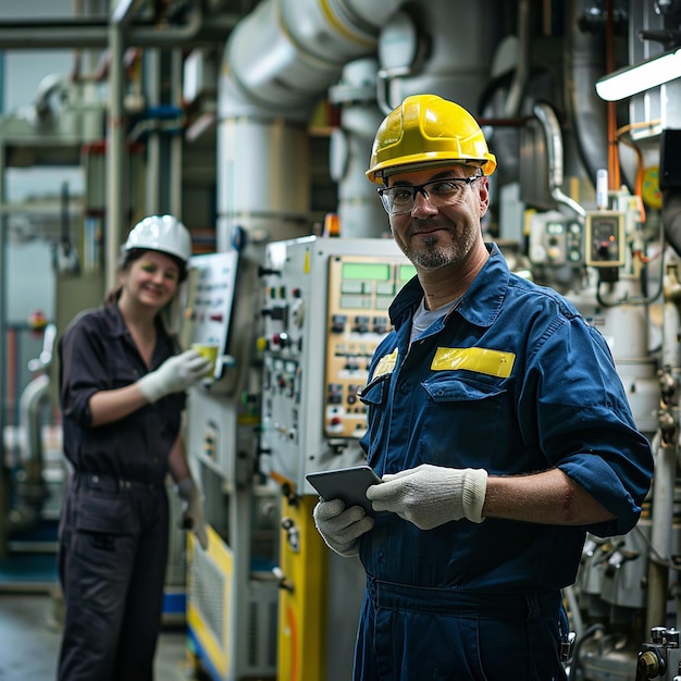
[[[218,249],[310,233],[308,122],[399,0],[265,0],[233,30],[219,83]]]

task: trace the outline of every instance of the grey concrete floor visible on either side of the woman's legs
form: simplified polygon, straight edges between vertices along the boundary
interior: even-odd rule
[[[60,626],[49,594],[0,593],[0,681],[53,681]],[[182,628],[165,628],[157,651],[158,681],[194,679]]]

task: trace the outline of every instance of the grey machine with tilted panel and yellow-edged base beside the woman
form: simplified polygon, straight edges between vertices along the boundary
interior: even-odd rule
[[[276,664],[275,505],[256,484],[252,444],[235,437],[239,431],[247,438],[256,425],[234,399],[238,270],[236,250],[194,257],[181,327],[185,347],[200,340],[220,348],[213,375],[193,391],[187,409],[187,449],[211,521],[208,550],[190,541],[187,623],[203,666],[218,679],[271,677]]]

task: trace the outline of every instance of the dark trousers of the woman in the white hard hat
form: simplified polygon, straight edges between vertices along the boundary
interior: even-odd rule
[[[74,474],[60,522],[59,681],[153,678],[168,522],[163,485]]]

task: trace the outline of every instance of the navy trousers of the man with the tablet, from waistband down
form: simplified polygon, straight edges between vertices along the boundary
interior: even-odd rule
[[[370,579],[352,679],[565,681],[566,627],[560,592],[471,594]]]

